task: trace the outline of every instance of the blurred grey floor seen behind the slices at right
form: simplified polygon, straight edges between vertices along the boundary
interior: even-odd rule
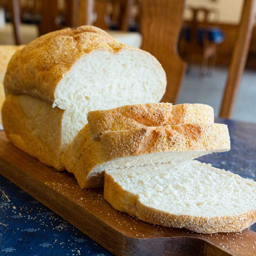
[[[202,77],[199,68],[192,67],[184,78],[177,103],[208,104],[218,116],[227,73],[228,68],[217,67],[213,76]],[[256,70],[244,71],[233,119],[256,123]]]

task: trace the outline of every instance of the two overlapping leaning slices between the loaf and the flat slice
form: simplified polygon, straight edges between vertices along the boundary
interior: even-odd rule
[[[81,188],[103,186],[104,171],[192,160],[230,148],[228,128],[203,104],[149,103],[88,113],[61,161]],[[100,135],[101,134],[101,135]]]

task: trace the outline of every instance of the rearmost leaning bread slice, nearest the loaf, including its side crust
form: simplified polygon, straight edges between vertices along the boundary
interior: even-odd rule
[[[68,144],[61,161],[69,172],[83,152],[100,140],[102,132],[128,130],[132,128],[160,126],[170,124],[196,124],[214,122],[213,108],[204,104],[146,103],[127,105],[110,110],[90,111],[86,124]],[[91,131],[91,132],[90,132]],[[95,147],[95,151],[99,149]]]

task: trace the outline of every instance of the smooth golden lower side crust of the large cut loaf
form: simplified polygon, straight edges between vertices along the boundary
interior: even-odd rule
[[[8,140],[30,156],[64,170],[60,163],[63,113],[45,101],[9,94],[2,108],[4,132]]]

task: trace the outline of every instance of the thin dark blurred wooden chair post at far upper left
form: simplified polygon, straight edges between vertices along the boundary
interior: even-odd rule
[[[20,1],[11,0],[11,9],[12,9],[12,20],[14,27],[14,37],[17,45],[21,44],[21,33],[20,33]]]

